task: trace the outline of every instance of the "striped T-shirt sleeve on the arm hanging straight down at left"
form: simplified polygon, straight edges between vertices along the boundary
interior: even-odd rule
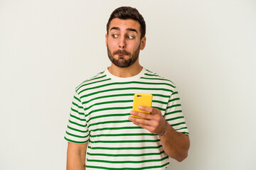
[[[73,143],[86,143],[89,140],[85,110],[77,93],[75,93],[73,98],[68,127],[64,138],[68,142]]]

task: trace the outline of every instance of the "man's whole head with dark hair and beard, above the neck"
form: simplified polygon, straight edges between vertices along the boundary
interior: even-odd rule
[[[110,61],[117,67],[138,63],[139,50],[146,45],[144,18],[132,7],[115,9],[107,23],[106,45]]]

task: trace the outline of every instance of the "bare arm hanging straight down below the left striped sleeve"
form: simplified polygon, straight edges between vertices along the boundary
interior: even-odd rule
[[[87,144],[68,142],[67,170],[85,170]]]

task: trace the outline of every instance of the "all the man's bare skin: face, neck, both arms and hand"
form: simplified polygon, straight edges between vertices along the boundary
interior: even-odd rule
[[[134,59],[138,50],[144,50],[146,45],[146,38],[140,38],[141,33],[139,31],[139,22],[132,19],[122,20],[114,18],[110,22],[110,30],[108,35],[105,35],[106,46],[108,53],[113,60],[116,60],[117,64],[125,65],[127,61]],[[119,54],[118,50],[126,51],[126,54]],[[115,54],[117,52],[117,54]],[[110,59],[111,60],[111,59]],[[139,64],[139,58],[134,61],[129,67],[118,67],[115,64],[111,64],[108,68],[111,74],[116,77],[133,77],[141,72],[143,67]],[[139,125],[149,132],[157,135],[161,135],[164,131],[164,135],[159,136],[161,143],[164,147],[164,152],[171,158],[176,159],[178,162],[186,159],[188,155],[188,149],[190,146],[189,138],[183,133],[176,132],[174,128],[169,125],[164,117],[161,115],[161,111],[156,108],[140,106],[140,110],[148,111],[148,113],[131,111],[131,120],[135,125]],[[141,118],[134,118],[132,115],[137,115]],[[76,144],[68,142],[67,152],[67,169],[68,170],[80,170],[85,169],[85,155],[86,155],[87,143]]]

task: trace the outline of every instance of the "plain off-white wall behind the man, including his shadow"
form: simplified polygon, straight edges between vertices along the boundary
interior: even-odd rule
[[[75,87],[110,66],[119,6],[146,21],[141,64],[181,95],[191,149],[169,169],[256,169],[253,0],[0,0],[0,169],[65,169]]]

